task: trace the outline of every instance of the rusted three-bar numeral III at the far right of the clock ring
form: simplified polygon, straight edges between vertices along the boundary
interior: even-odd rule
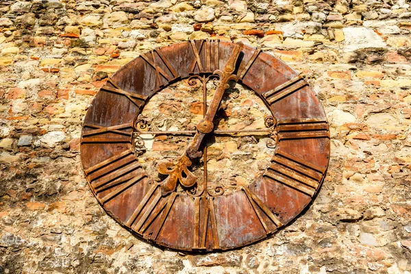
[[[329,138],[327,121],[322,119],[291,119],[277,121],[278,140]]]

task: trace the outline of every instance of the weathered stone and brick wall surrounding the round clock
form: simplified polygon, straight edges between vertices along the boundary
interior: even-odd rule
[[[408,273],[410,31],[406,0],[2,0],[0,273]],[[82,119],[108,75],[199,38],[241,40],[305,73],[332,134],[310,208],[223,253],[132,236],[79,160]]]

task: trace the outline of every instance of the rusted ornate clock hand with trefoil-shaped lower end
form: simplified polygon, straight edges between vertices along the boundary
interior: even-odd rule
[[[214,123],[212,123],[212,121],[214,120],[214,116],[219,109],[219,105],[221,103],[221,99],[223,99],[225,90],[229,88],[228,82],[230,80],[234,80],[236,82],[238,81],[237,76],[233,75],[233,73],[236,69],[236,62],[238,56],[240,55],[241,49],[242,42],[238,42],[238,44],[234,47],[233,54],[230,56],[229,60],[227,60],[223,71],[214,71],[214,74],[220,76],[220,83],[214,92],[210,107],[208,108],[204,119],[196,125],[197,132],[194,138],[192,138],[192,141],[188,145],[186,151],[184,151],[181,158],[179,158],[177,164],[173,164],[168,160],[162,160],[158,163],[158,172],[164,175],[169,175],[169,177],[161,182],[162,196],[168,195],[170,192],[175,190],[177,187],[177,180],[179,180],[179,182],[185,187],[190,187],[195,184],[197,178],[188,170],[188,166],[191,166],[192,164],[190,159],[201,157],[202,152],[199,151],[199,147],[206,134],[212,132],[212,129],[214,129]]]

